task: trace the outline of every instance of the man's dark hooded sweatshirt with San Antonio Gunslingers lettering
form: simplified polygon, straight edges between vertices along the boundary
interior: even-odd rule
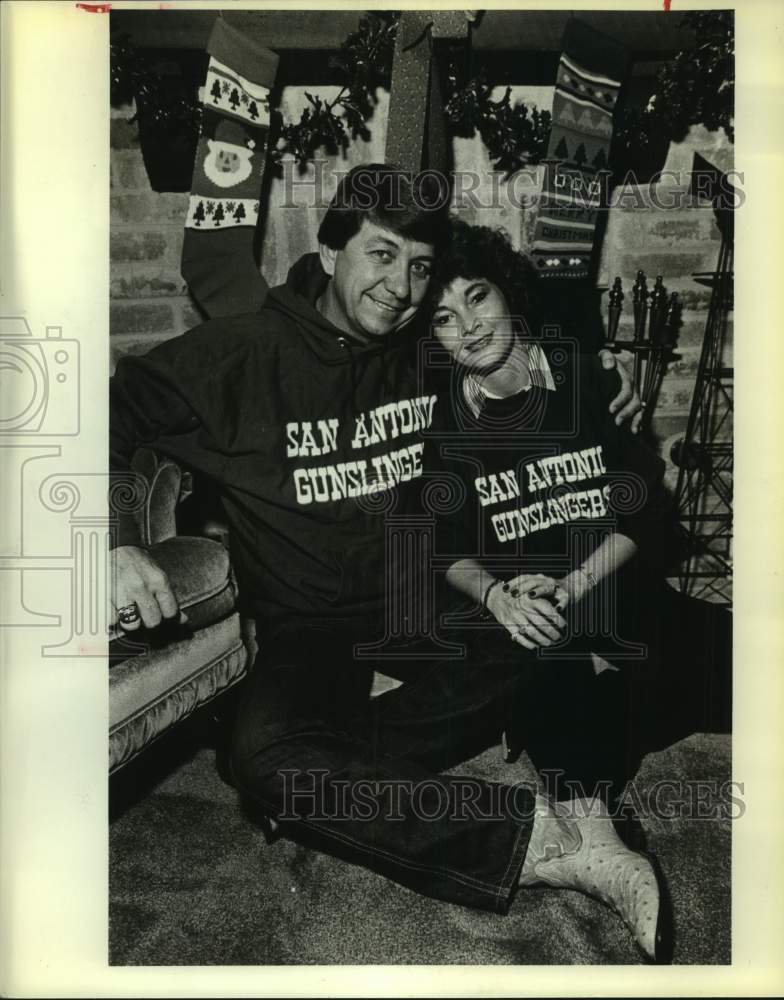
[[[409,337],[364,344],[320,315],[327,280],[307,255],[258,313],[124,357],[112,379],[112,470],[149,446],[217,484],[262,620],[378,615],[405,587],[387,525],[419,509],[436,397]]]

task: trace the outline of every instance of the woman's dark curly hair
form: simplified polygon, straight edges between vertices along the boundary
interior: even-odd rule
[[[484,278],[501,290],[510,315],[523,329],[536,332],[538,306],[535,273],[525,256],[515,250],[502,229],[471,226],[462,219],[450,220],[450,241],[436,258],[428,285],[424,310],[428,320],[436,311],[444,289],[456,278]]]

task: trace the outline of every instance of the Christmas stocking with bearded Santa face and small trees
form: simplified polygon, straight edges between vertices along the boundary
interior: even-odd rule
[[[182,276],[208,316],[259,308],[267,283],[253,253],[278,57],[215,22],[201,138],[185,220]]]

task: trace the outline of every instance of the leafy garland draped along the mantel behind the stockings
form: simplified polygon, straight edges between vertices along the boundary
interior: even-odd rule
[[[369,14],[360,20],[332,62],[337,96],[327,101],[306,92],[309,106],[299,121],[284,122],[273,111],[273,134],[278,143],[270,153],[273,166],[284,156],[293,156],[304,169],[319,150],[345,152],[352,139],[369,139],[368,121],[378,104],[379,88],[389,88],[399,12]],[[697,35],[694,48],[679,52],[657,77],[657,90],[644,111],[627,111],[616,129],[617,148],[640,151],[656,140],[682,139],[689,126],[701,123],[708,129],[723,127],[733,138],[732,12],[689,13],[683,23]],[[153,65],[127,38],[111,45],[112,104],[137,101],[137,115],[165,131],[173,126],[192,130],[198,136],[201,108],[195,98],[173,89],[171,77],[157,73]],[[551,118],[547,111],[512,103],[511,88],[494,101],[492,84],[484,72],[466,79],[453,64],[446,78],[444,111],[453,136],[482,137],[494,167],[513,173],[545,155]],[[134,121],[132,118],[131,121]]]

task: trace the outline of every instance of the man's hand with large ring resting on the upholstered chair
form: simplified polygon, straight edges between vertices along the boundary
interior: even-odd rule
[[[177,598],[160,566],[144,549],[120,545],[111,552],[113,599],[109,602],[109,624],[119,621],[119,609],[136,604],[141,618],[120,627],[133,632],[144,625],[155,628],[163,618],[174,618],[179,611]]]

